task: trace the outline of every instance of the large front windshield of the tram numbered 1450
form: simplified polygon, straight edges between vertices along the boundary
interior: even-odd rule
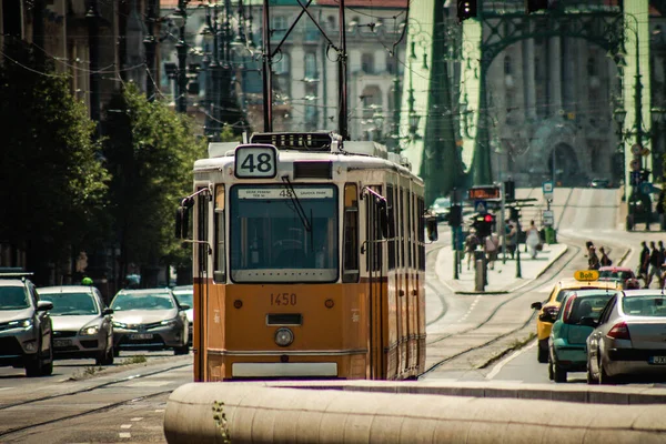
[[[337,280],[337,189],[292,185],[231,189],[230,265],[234,282]]]

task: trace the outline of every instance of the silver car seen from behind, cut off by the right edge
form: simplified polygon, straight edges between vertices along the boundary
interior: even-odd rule
[[[587,337],[587,382],[610,384],[618,376],[666,376],[666,295],[625,290],[613,296]]]

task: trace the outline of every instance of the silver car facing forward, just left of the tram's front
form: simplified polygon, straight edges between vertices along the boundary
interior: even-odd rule
[[[121,349],[163,350],[188,354],[186,304],[179,304],[170,289],[121,290],[113,301],[113,340]]]

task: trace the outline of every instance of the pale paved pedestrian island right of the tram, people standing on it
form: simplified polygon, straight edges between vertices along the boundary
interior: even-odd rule
[[[495,270],[488,269],[487,285],[483,292],[475,291],[475,272],[474,261],[470,262],[467,270],[467,258],[461,262],[461,271],[458,279],[454,276],[454,254],[451,245],[444,246],[437,254],[437,263],[435,266],[440,282],[447,286],[456,294],[503,294],[509,293],[519,289],[523,285],[532,282],[542,275],[559,256],[567,250],[567,246],[562,243],[544,244],[544,250],[539,251],[536,259],[529,258],[529,253],[525,253],[525,245],[521,245],[521,275],[516,278],[516,261],[511,258],[506,259],[506,263],[502,263],[502,254],[495,262]]]

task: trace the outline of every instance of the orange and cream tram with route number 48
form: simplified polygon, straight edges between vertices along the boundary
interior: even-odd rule
[[[383,145],[335,133],[245,142],[210,144],[178,211],[194,244],[194,380],[416,377],[423,181]]]

